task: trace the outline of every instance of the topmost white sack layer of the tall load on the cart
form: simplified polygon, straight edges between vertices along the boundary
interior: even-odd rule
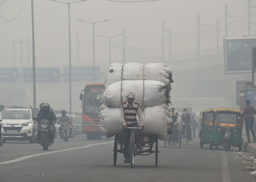
[[[105,88],[111,83],[121,80],[156,80],[170,85],[172,80],[171,68],[164,63],[113,63],[109,65],[105,77]]]

